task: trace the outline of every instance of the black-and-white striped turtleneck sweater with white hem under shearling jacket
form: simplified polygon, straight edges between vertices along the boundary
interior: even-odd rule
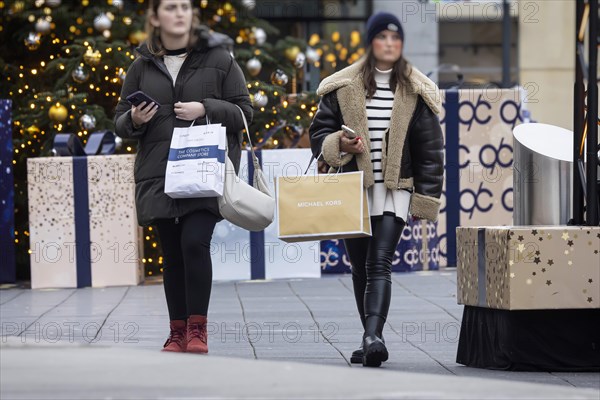
[[[375,82],[377,83],[377,91],[371,99],[367,99],[367,119],[369,136],[371,139],[371,162],[373,163],[373,173],[375,178],[375,184],[368,189],[367,193],[371,208],[371,216],[390,214],[406,221],[410,204],[410,192],[404,189],[387,189],[383,183],[383,173],[381,170],[383,135],[390,126],[392,105],[394,102],[394,93],[390,89],[391,75],[391,69],[387,71],[376,69]],[[400,110],[394,110],[394,112],[399,111]],[[400,162],[400,160],[390,160],[388,158],[387,162],[394,163]]]

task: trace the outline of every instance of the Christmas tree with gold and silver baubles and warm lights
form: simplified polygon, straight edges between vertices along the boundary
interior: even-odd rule
[[[0,1],[0,98],[13,100],[15,242],[20,278],[28,273],[28,157],[52,156],[56,133],[75,133],[83,143],[113,130],[113,113],[135,47],[145,40],[143,0]],[[201,21],[236,43],[255,107],[250,127],[262,148],[294,147],[316,111],[314,93],[302,91],[308,63],[320,49],[278,38],[255,18],[255,1],[193,1]],[[313,43],[318,45],[318,43]],[[118,152],[135,153],[135,141],[118,140]],[[152,228],[145,228],[147,275],[161,272]]]

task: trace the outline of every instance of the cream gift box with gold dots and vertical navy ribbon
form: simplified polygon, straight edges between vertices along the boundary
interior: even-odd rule
[[[143,280],[134,160],[135,155],[27,160],[32,288]]]

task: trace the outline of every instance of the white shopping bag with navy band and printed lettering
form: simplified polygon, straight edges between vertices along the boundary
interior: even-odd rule
[[[225,132],[221,124],[173,129],[165,194],[174,199],[223,195]]]

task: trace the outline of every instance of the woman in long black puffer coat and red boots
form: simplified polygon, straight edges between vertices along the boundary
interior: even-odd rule
[[[210,241],[222,219],[216,197],[172,199],[164,193],[173,128],[192,121],[227,128],[229,158],[239,170],[239,133],[252,104],[244,75],[230,51],[233,41],[199,24],[191,0],[151,0],[148,39],[127,71],[117,105],[116,133],[139,141],[135,160],[138,223],[154,225],[164,256],[164,290],[170,334],[164,351],[207,353],[212,287]],[[143,91],[153,102],[129,104]]]

